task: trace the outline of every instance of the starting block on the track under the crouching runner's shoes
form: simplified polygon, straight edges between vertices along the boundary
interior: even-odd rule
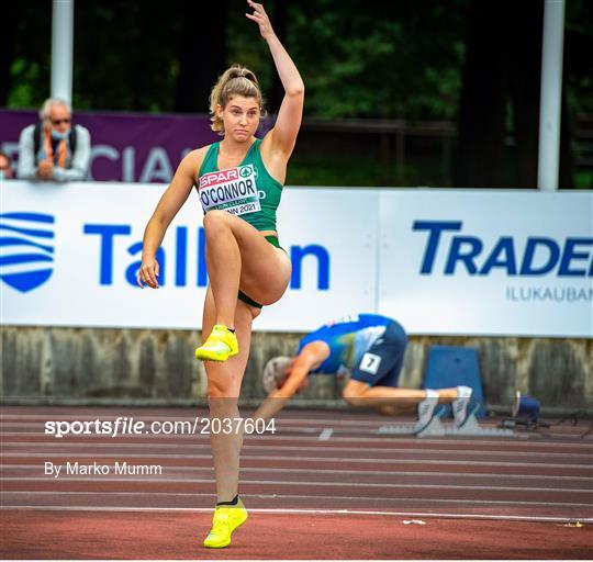
[[[377,430],[377,434],[415,437],[512,437],[515,435],[512,429],[507,428],[482,427],[475,417],[479,409],[479,403],[472,404],[468,412],[468,417],[461,427],[457,427],[452,423],[444,424],[441,422],[441,418],[447,414],[447,408],[441,406],[435,411],[435,415],[430,418],[430,422],[423,428],[418,428],[417,423],[385,425],[381,426]]]

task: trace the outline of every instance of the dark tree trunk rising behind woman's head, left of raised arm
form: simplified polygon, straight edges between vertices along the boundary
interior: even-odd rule
[[[210,90],[226,68],[227,0],[183,0],[174,111],[208,113]]]

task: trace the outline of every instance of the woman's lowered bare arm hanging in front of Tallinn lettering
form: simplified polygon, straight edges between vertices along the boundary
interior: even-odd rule
[[[181,160],[170,186],[160,198],[146,225],[142,244],[142,266],[137,277],[139,286],[147,284],[153,289],[158,289],[159,266],[156,252],[163,243],[167,227],[187,201],[197,181],[197,171],[202,166],[206,150],[208,147],[192,150]]]

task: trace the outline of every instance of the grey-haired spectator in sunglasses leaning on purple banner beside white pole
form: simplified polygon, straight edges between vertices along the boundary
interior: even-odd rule
[[[40,122],[29,125],[19,139],[19,179],[77,181],[87,178],[90,134],[72,125],[64,100],[49,98],[40,111]]]

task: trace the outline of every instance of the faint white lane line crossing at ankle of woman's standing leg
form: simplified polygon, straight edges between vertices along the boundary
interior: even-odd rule
[[[35,492],[1,492],[1,496],[33,496],[40,497],[40,496],[142,496],[146,497],[146,492],[42,492],[42,491],[35,491]],[[212,494],[198,494],[198,493],[186,493],[186,492],[150,492],[150,496],[159,496],[159,497],[195,497],[195,496],[212,496]],[[315,499],[327,499],[327,501],[346,501],[346,502],[393,502],[393,503],[402,503],[402,502],[415,502],[415,503],[429,503],[429,504],[460,504],[462,506],[471,504],[471,505],[508,505],[508,506],[516,506],[516,505],[534,505],[534,506],[545,506],[545,507],[585,507],[591,508],[591,504],[577,504],[577,503],[568,503],[568,502],[513,502],[508,499],[459,499],[459,498],[451,498],[451,499],[443,499],[443,498],[426,498],[426,497],[373,497],[373,496],[340,496],[340,495],[301,495],[301,494],[242,494],[242,497],[256,497],[259,499],[307,499],[307,501],[315,501]],[[2,502],[0,504],[2,506],[7,505],[5,502]]]

